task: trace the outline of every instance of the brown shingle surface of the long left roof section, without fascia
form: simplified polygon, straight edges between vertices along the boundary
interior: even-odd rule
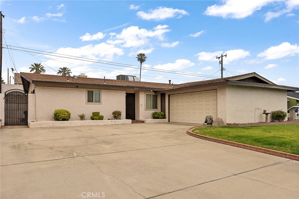
[[[137,82],[137,81],[126,81],[126,80],[116,80],[116,79],[97,79],[97,78],[87,78],[78,77],[75,79],[72,76],[59,76],[59,75],[46,75],[46,74],[34,74],[34,73],[23,73],[21,76],[27,77],[31,81],[36,82],[59,82],[59,83],[80,83],[80,84],[93,84],[93,85],[113,85],[113,86],[130,86],[130,87],[143,87],[143,88],[168,88],[167,83],[154,83],[154,82]],[[67,81],[69,79],[69,81]]]

